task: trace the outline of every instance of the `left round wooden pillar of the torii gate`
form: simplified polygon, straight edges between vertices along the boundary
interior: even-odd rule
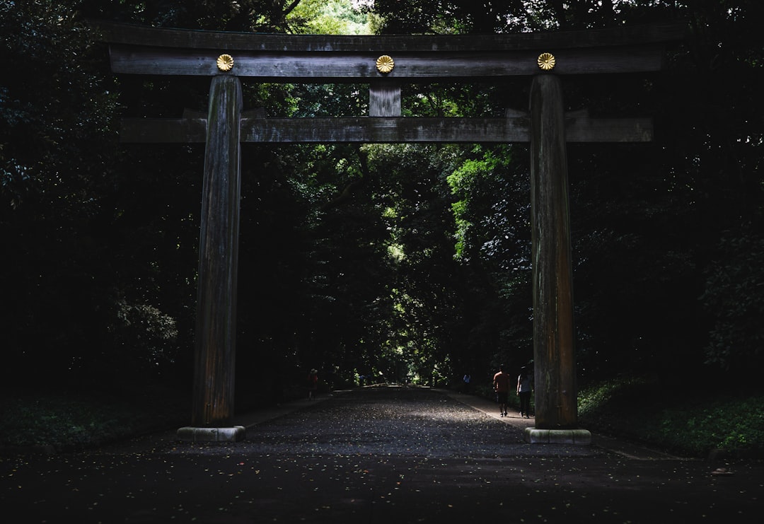
[[[199,238],[192,413],[197,427],[230,425],[234,415],[241,105],[238,77],[215,76]]]

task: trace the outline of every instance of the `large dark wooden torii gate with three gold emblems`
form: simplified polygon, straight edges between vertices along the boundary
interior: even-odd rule
[[[578,429],[566,142],[652,140],[650,118],[565,115],[560,76],[662,67],[681,24],[458,36],[325,36],[189,31],[97,21],[112,71],[210,76],[199,118],[125,119],[122,142],[205,143],[192,426],[179,438],[235,441],[235,316],[242,143],[529,142],[536,427],[527,442],[589,444]],[[403,82],[531,77],[529,112],[403,118]],[[267,118],[242,111],[241,77],[368,83],[369,115]]]

